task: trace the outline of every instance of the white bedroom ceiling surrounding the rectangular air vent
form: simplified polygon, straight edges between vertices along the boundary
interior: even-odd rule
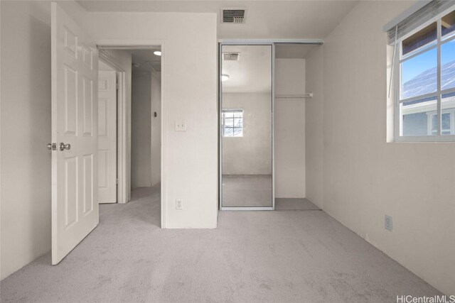
[[[80,0],[87,11],[217,13],[218,38],[325,38],[358,1]],[[245,24],[220,23],[221,8],[247,9]]]

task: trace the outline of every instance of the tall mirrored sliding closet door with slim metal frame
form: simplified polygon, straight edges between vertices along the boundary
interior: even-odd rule
[[[272,210],[273,45],[220,45],[221,209]]]

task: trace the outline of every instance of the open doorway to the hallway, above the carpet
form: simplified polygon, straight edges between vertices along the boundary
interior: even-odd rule
[[[161,183],[161,48],[98,48],[99,202],[156,198]],[[155,198],[154,203],[161,202]]]

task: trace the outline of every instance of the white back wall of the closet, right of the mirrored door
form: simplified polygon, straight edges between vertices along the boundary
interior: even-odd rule
[[[275,60],[275,92],[304,94],[305,60]],[[275,197],[305,197],[305,106],[304,99],[276,98]]]

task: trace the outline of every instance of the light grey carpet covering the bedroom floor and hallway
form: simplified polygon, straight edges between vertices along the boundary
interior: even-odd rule
[[[1,282],[1,302],[395,302],[440,294],[323,211],[220,211],[217,229],[163,229],[159,186],[100,205],[63,261]],[[82,291],[81,291],[82,290]]]

